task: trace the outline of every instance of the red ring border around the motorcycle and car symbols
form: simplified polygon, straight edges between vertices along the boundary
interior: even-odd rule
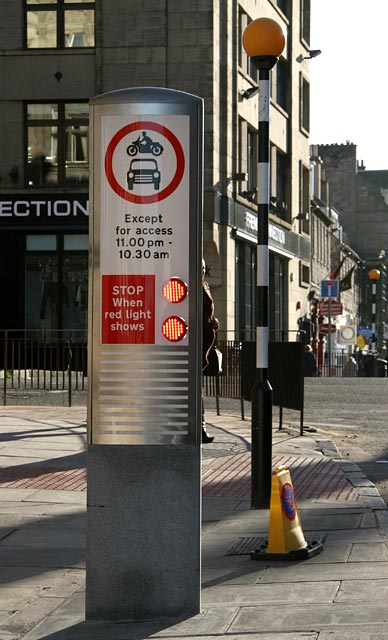
[[[171,143],[176,155],[176,170],[173,179],[167,185],[167,187],[165,187],[165,189],[162,189],[160,193],[155,193],[149,196],[137,196],[133,193],[129,193],[117,182],[116,177],[113,173],[113,154],[118,143],[124,138],[124,136],[128,135],[128,133],[137,131],[138,129],[151,129],[151,131],[160,133]],[[125,125],[125,127],[122,127],[122,129],[119,129],[119,131],[115,133],[112,140],[109,142],[105,154],[105,174],[110,186],[112,187],[113,191],[115,191],[117,195],[120,196],[120,198],[128,200],[129,202],[134,202],[135,204],[152,204],[153,202],[159,202],[160,200],[164,200],[165,198],[170,196],[179,186],[183,178],[184,170],[185,155],[178,138],[172,133],[172,131],[170,131],[170,129],[167,129],[167,127],[165,127],[164,125],[158,124],[157,122],[149,122],[148,120],[133,122],[132,124],[127,124]]]

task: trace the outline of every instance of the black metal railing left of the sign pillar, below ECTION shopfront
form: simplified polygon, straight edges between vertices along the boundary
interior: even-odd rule
[[[61,392],[69,407],[86,391],[87,332],[0,330],[0,377],[3,405],[20,392],[44,403],[48,392]]]

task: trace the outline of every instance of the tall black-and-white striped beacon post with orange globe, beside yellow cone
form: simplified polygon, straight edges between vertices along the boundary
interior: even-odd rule
[[[270,71],[285,45],[280,25],[258,18],[243,33],[243,46],[259,70],[258,225],[256,277],[256,379],[252,389],[252,497],[254,509],[270,506],[272,476],[272,387],[268,380],[269,342],[269,104]]]

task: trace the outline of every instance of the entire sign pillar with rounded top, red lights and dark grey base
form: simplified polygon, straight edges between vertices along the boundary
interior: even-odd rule
[[[87,619],[200,611],[203,101],[91,101]]]

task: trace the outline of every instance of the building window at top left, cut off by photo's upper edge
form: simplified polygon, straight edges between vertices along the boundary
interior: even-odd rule
[[[25,0],[27,49],[94,47],[94,0]]]

